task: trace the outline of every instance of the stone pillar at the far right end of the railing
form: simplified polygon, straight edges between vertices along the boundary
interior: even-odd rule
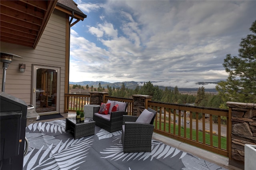
[[[244,145],[256,144],[256,104],[226,103],[232,112],[232,146],[229,164],[244,169]]]

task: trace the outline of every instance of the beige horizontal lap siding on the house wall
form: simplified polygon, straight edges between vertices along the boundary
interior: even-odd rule
[[[64,112],[66,14],[54,10],[35,49],[1,42],[1,52],[23,57],[13,58],[6,70],[5,92],[32,103],[32,64],[60,68],[60,113]],[[25,72],[19,72],[19,64],[26,64]],[[1,63],[2,64],[2,63]],[[2,68],[2,66],[1,66]],[[2,73],[0,71],[1,91]]]

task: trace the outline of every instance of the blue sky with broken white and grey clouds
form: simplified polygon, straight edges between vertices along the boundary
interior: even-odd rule
[[[223,60],[256,20],[256,1],[74,1],[87,18],[71,27],[71,82],[226,80]]]

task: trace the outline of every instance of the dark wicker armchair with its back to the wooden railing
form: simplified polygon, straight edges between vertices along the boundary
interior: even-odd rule
[[[151,108],[148,111],[154,113],[150,124],[135,122],[137,116],[123,116],[122,145],[126,152],[151,152],[151,140],[154,130],[156,111]]]

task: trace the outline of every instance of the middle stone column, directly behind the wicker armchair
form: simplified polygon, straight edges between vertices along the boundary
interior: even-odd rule
[[[140,116],[145,108],[148,108],[148,101],[151,101],[152,96],[148,95],[132,95],[133,98],[133,116]]]

